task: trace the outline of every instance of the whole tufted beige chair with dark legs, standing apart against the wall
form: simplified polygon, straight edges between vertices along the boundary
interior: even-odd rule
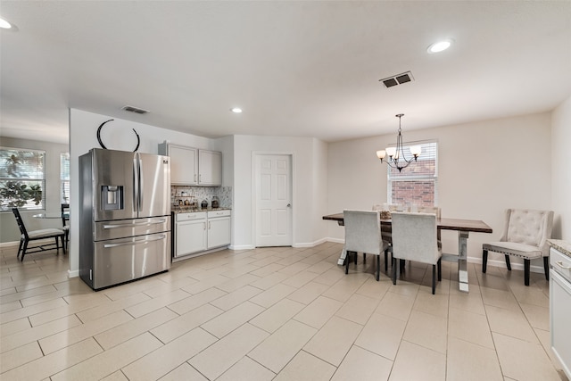
[[[500,241],[482,245],[482,272],[486,271],[490,251],[504,254],[510,271],[509,255],[523,258],[525,286],[529,286],[531,260],[543,258],[545,279],[549,280],[550,248],[547,240],[551,237],[552,228],[553,211],[508,209]]]

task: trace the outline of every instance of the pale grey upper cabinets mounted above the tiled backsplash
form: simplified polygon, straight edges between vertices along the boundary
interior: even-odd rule
[[[221,186],[222,153],[184,145],[159,144],[159,154],[170,156],[170,184]]]

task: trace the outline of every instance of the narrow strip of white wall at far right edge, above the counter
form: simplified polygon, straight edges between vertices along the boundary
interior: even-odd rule
[[[559,214],[553,236],[571,241],[571,96],[551,116],[551,198]]]

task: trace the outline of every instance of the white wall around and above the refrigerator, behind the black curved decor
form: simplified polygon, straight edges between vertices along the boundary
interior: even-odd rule
[[[103,121],[114,119],[102,128],[102,141],[108,149],[133,151],[137,145],[137,137],[133,133],[135,128],[140,137],[140,153],[158,153],[158,145],[164,140],[177,142],[178,145],[188,145],[202,149],[224,148],[224,142],[216,143],[206,137],[196,137],[170,129],[149,126],[128,120],[99,115],[92,112],[84,112],[70,109],[70,235],[79,236],[79,156],[87,153],[91,148],[100,148],[97,142],[97,128]],[[145,120],[145,116],[141,116]],[[225,157],[227,153],[222,152]],[[231,157],[231,153],[229,153]],[[231,178],[231,177],[230,177]],[[227,179],[227,177],[225,177]],[[77,239],[70,241],[70,276],[79,275],[79,243]]]

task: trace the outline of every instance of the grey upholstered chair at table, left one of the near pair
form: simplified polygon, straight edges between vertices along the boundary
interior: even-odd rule
[[[381,221],[378,211],[343,211],[343,221],[345,225],[345,274],[349,273],[350,255],[355,255],[357,263],[357,253],[363,253],[363,261],[367,260],[367,254],[377,255],[377,280],[380,276],[380,256],[385,253],[387,261],[387,250],[389,244],[381,237]]]

